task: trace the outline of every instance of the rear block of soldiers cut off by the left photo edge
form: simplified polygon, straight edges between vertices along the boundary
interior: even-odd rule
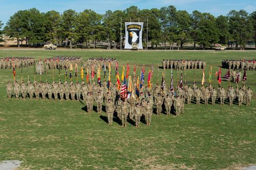
[[[0,58],[0,69],[12,69],[34,65],[35,58],[31,57],[5,57]]]

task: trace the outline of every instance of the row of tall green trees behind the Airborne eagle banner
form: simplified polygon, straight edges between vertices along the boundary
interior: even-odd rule
[[[26,41],[27,46],[65,43],[70,48],[77,44],[88,48],[93,42],[95,48],[97,42],[105,41],[109,42],[110,48],[113,43],[120,44],[121,17],[124,20],[148,19],[148,41],[151,48],[163,44],[166,49],[166,44],[170,44],[170,49],[174,46],[179,49],[183,44],[191,43],[194,49],[196,45],[205,49],[219,43],[245,49],[249,41],[256,42],[256,11],[249,14],[245,10],[232,10],[225,16],[215,17],[199,11],[188,13],[174,6],[151,10],[130,6],[124,11],[109,10],[105,14],[93,10],[41,13],[31,8],[14,13],[4,28],[0,21],[0,35],[18,39],[18,47],[20,42]],[[146,30],[142,36],[143,45],[146,46]],[[0,41],[3,39],[0,38]]]

